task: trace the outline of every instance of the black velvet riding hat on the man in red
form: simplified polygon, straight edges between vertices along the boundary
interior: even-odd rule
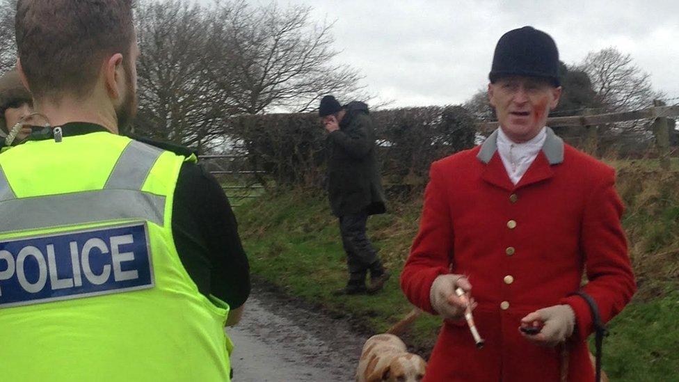
[[[508,76],[543,77],[559,86],[559,50],[550,35],[532,26],[504,33],[488,78],[493,83]]]

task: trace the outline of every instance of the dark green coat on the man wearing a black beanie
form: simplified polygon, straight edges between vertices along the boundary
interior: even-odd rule
[[[351,102],[340,129],[328,134],[328,196],[335,216],[383,214],[384,191],[368,106]]]

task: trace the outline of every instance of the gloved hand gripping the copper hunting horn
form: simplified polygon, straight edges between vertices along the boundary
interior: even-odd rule
[[[462,275],[440,275],[429,289],[431,306],[445,319],[461,319],[467,308],[467,304],[456,296],[456,287],[461,287],[465,292],[472,289],[472,285]],[[474,309],[474,299],[470,299],[470,303]]]

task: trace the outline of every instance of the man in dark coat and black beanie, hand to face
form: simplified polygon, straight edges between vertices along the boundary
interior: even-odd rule
[[[340,294],[378,292],[390,273],[366,235],[367,218],[386,212],[384,191],[376,160],[375,133],[368,106],[350,102],[341,106],[332,95],[321,100],[319,116],[328,131],[328,196],[333,214],[340,218],[349,282]],[[367,273],[370,285],[365,285]]]

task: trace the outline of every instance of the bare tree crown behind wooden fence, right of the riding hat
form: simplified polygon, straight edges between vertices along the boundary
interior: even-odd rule
[[[589,75],[598,103],[609,111],[648,107],[663,97],[653,90],[650,74],[634,64],[630,54],[615,47],[590,52],[580,68]]]

